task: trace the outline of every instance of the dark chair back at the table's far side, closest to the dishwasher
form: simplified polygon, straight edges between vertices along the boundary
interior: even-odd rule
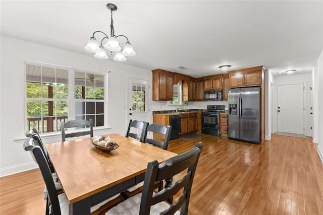
[[[144,142],[148,143],[148,144],[152,144],[154,146],[157,147],[161,147],[164,150],[168,149],[168,142],[170,140],[170,136],[171,136],[171,130],[172,130],[172,126],[171,125],[160,125],[160,124],[149,124],[147,126],[147,130],[145,133],[145,139]],[[156,139],[150,139],[147,138],[147,133],[148,131],[152,132],[152,133],[159,133],[159,134],[164,134],[164,141],[159,141]]]

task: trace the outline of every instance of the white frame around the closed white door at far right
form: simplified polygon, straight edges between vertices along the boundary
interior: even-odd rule
[[[306,127],[306,125],[307,125],[307,116],[306,116],[307,115],[307,110],[305,108],[305,107],[307,107],[307,103],[306,103],[306,101],[307,101],[306,94],[307,93],[305,91],[305,89],[306,89],[306,82],[286,84],[286,85],[303,85],[303,108],[304,108],[304,121],[303,121],[304,134],[303,135],[306,136],[306,134],[307,134],[307,127]],[[277,102],[277,100],[278,100],[278,86],[284,86],[284,85],[276,85],[275,86],[275,91],[276,91],[275,92],[275,96],[276,96],[276,99],[275,99],[275,109],[273,110],[274,113],[275,113],[274,118],[276,120],[276,123],[275,123],[275,132],[278,131],[278,114],[277,114],[277,110],[278,110],[278,102]]]

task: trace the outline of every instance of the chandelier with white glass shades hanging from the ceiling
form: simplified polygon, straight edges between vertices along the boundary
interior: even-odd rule
[[[110,37],[108,37],[104,32],[102,31],[95,31],[92,35],[92,37],[90,37],[89,41],[87,42],[87,45],[84,47],[84,49],[88,52],[92,52],[95,53],[94,57],[98,58],[98,59],[108,59],[109,57],[106,54],[105,49],[110,51],[110,54],[112,55],[113,52],[116,52],[115,57],[113,58],[116,61],[125,61],[127,60],[127,57],[131,57],[131,56],[135,56],[136,52],[133,50],[133,47],[131,45],[131,43],[128,40],[128,37],[126,37],[125,35],[115,35],[115,28],[113,26],[113,18],[112,18],[112,12],[113,11],[117,11],[117,6],[115,6],[114,4],[107,4],[106,8],[111,11],[111,33],[110,33]],[[101,33],[104,35],[104,37],[101,39],[101,43],[99,44],[96,41],[96,38],[94,37],[94,34],[96,33]],[[125,46],[123,47],[123,49],[121,49],[118,37],[124,37],[127,39],[127,42],[125,44]],[[107,40],[106,43],[103,45],[103,41]]]

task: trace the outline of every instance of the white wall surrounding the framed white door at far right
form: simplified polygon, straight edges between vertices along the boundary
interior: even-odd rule
[[[277,86],[278,85],[292,85],[292,84],[304,84],[305,93],[304,93],[304,107],[305,107],[305,115],[304,115],[304,124],[305,124],[305,135],[312,136],[312,132],[310,127],[313,127],[313,124],[310,122],[310,107],[313,107],[313,103],[311,101],[311,93],[313,93],[309,87],[311,87],[312,74],[304,73],[304,74],[292,74],[292,75],[284,75],[284,76],[274,76],[273,83],[275,85],[275,95],[274,98],[277,98]],[[275,99],[275,104],[273,105],[272,114],[274,114],[274,127],[277,131],[277,112],[276,112],[276,104],[277,101]]]

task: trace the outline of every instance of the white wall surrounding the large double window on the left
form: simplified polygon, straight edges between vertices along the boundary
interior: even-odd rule
[[[107,119],[111,129],[94,130],[94,135],[126,132],[127,81],[128,77],[151,80],[151,71],[111,60],[99,60],[92,56],[77,54],[49,46],[1,37],[0,78],[0,176],[35,168],[29,153],[23,150],[25,133],[25,84],[24,60],[38,61],[79,69],[107,73],[108,105]],[[43,138],[44,143],[61,141],[61,136]]]

